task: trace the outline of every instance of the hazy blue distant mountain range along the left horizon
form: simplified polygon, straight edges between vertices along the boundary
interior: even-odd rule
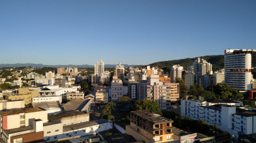
[[[115,68],[117,64],[105,64],[106,68]],[[122,64],[125,67],[129,67],[129,66],[140,66],[140,65],[129,65],[129,64]],[[14,67],[14,66],[31,66],[31,67],[37,67],[37,68],[44,68],[44,67],[52,67],[52,68],[58,68],[58,67],[64,67],[67,68],[69,66],[75,66],[78,68],[94,68],[94,65],[89,65],[89,64],[82,64],[82,65],[75,65],[75,64],[68,64],[68,65],[46,65],[46,64],[31,64],[31,63],[27,63],[27,64],[0,64],[0,68],[3,67]]]

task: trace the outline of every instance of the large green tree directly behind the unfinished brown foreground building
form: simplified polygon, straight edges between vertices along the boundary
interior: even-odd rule
[[[162,115],[161,110],[159,109],[157,101],[153,100],[138,100],[135,102],[135,104],[132,106],[132,110],[148,110],[152,113]]]

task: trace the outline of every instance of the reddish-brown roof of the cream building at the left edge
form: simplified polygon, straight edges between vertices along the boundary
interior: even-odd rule
[[[24,109],[16,109],[16,110],[9,110],[9,111],[2,111],[0,115],[8,116],[8,115],[18,115],[20,113],[35,113],[39,111],[43,111],[42,108],[24,108]]]

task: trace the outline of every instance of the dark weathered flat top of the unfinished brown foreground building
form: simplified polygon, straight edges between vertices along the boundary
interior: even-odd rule
[[[138,115],[138,116],[142,117],[143,119],[146,119],[153,123],[165,123],[165,122],[173,123],[174,122],[171,119],[167,119],[165,117],[162,117],[161,115],[151,113],[148,110],[135,110],[135,111],[131,111],[131,113]]]

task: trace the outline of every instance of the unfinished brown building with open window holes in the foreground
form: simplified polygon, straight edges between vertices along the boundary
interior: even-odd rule
[[[147,110],[131,111],[130,125],[126,126],[126,134],[136,140],[149,142],[172,142],[172,121]]]

